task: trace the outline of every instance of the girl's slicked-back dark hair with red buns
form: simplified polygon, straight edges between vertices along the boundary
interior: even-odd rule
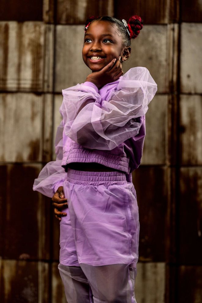
[[[130,40],[137,38],[137,36],[140,33],[140,30],[143,27],[143,22],[144,22],[140,16],[134,15],[129,18],[127,23],[128,27],[125,27],[122,20],[119,18],[110,17],[110,16],[90,16],[86,20],[84,31],[87,30],[90,23],[92,23],[93,21],[100,21],[100,20],[111,22],[112,25],[116,26],[119,35],[122,37],[123,46],[130,46]],[[130,36],[128,34],[128,31],[130,33]]]

